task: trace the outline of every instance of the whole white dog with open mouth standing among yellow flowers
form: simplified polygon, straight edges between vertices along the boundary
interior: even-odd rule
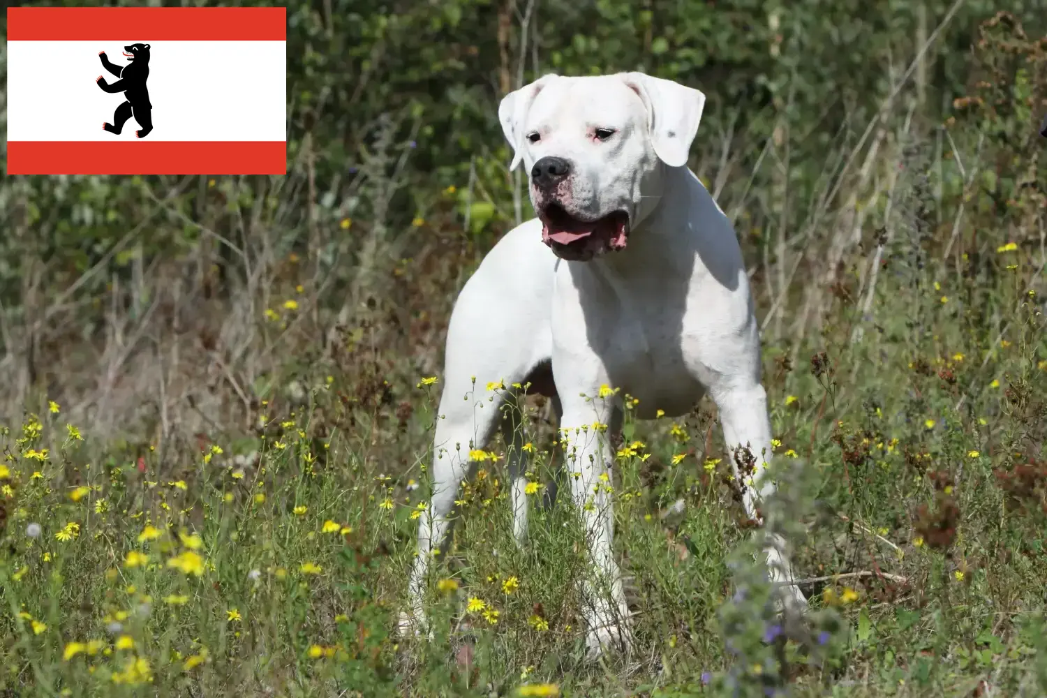
[[[584,586],[591,651],[630,641],[611,553],[612,497],[601,487],[615,459],[608,435],[621,427],[622,396],[639,399],[638,415],[653,419],[658,410],[687,413],[708,390],[738,454],[731,460],[745,479],[745,511],[759,516],[759,498],[774,485],[760,479],[771,427],[753,300],[731,223],[686,166],[704,105],[701,92],[639,72],[544,75],[502,100],[510,168],[527,166],[538,218],[494,246],[451,315],[432,501],[421,517],[401,630],[424,620],[426,571],[446,543],[469,451],[485,448],[499,422],[514,531],[518,540],[526,534],[528,454],[519,425],[499,409],[513,384],[530,382],[551,397],[559,418],[595,565]],[[507,390],[492,404],[485,387],[496,382]],[[601,398],[605,385],[619,391]],[[755,465],[752,479],[739,460]],[[782,542],[766,551],[772,579],[792,581]],[[796,586],[782,589],[785,603],[806,605]]]

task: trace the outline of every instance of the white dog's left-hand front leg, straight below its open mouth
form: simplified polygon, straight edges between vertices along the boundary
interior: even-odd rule
[[[610,466],[615,452],[609,436],[621,428],[621,408],[616,403],[616,398],[564,401],[560,428],[564,468],[585,526],[593,564],[592,573],[582,582],[591,657],[609,646],[627,649],[632,644],[628,607],[611,547],[615,517]]]

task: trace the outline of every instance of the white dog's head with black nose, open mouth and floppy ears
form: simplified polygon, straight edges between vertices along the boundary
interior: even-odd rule
[[[531,181],[542,240],[564,260],[625,247],[658,200],[663,166],[683,167],[706,96],[640,72],[544,75],[498,106]]]

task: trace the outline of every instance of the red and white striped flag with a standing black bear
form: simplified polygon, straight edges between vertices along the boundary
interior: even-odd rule
[[[8,175],[283,175],[285,7],[8,7]]]

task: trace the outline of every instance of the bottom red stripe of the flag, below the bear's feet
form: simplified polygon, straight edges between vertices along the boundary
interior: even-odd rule
[[[284,141],[9,140],[8,175],[286,175]]]

